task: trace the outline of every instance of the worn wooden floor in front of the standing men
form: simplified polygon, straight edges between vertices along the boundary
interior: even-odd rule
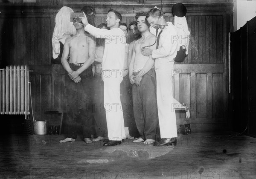
[[[180,135],[177,146],[126,140],[60,144],[64,136],[2,136],[0,178],[24,179],[255,179],[256,139],[236,133]]]

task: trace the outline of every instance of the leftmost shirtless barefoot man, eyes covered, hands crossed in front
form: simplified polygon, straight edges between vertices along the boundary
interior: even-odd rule
[[[67,71],[65,75],[65,94],[67,95],[68,130],[67,138],[60,143],[76,141],[77,124],[83,128],[83,139],[91,143],[91,135],[95,133],[91,101],[93,74],[91,64],[94,61],[95,41],[84,31],[79,17],[75,17],[73,25],[76,35],[67,38],[61,58],[61,64]],[[67,61],[70,55],[69,61]]]

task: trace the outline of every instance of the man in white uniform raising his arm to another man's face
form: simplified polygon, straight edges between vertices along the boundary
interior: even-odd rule
[[[84,15],[85,16],[85,15]],[[107,29],[97,29],[90,25],[86,16],[82,18],[84,30],[96,38],[105,38],[105,51],[102,59],[102,79],[104,81],[104,107],[108,127],[109,141],[103,146],[121,144],[125,139],[125,127],[120,101],[120,83],[123,80],[121,72],[124,68],[125,38],[119,28],[122,16],[119,12],[110,10],[107,14]]]

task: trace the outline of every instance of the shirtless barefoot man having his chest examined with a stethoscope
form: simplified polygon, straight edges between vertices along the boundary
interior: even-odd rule
[[[149,32],[146,14],[136,15],[137,25],[142,37],[134,44],[134,52],[129,66],[129,78],[133,84],[134,117],[140,138],[133,142],[152,144],[155,141],[157,129],[157,97],[154,59],[141,54],[141,48],[154,44],[156,38]],[[148,48],[155,49],[156,46]]]

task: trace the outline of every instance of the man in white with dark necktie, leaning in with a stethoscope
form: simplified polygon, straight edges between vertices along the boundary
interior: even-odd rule
[[[160,16],[161,11],[154,8],[148,12],[146,19],[152,27],[158,28],[156,24]],[[176,145],[177,143],[176,115],[172,105],[174,103],[172,72],[177,49],[177,30],[169,22],[160,34],[158,49],[141,49],[143,55],[152,55],[152,58],[155,58],[154,67],[157,78],[157,108],[161,140],[154,142],[154,146]]]

